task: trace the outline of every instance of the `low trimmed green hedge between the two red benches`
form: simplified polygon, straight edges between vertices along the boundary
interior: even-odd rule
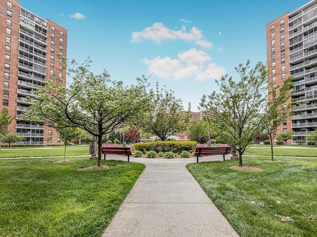
[[[145,154],[149,151],[159,152],[174,152],[180,154],[182,151],[193,152],[197,142],[148,142],[148,143],[135,143],[134,149]]]

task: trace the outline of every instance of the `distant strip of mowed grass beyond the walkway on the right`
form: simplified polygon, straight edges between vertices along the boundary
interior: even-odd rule
[[[315,147],[315,146],[314,146]],[[274,156],[285,156],[285,157],[317,157],[317,147],[314,148],[301,148],[301,147],[292,147],[292,148],[280,148],[273,147]],[[259,148],[259,147],[250,147],[246,150],[244,155],[253,155],[253,156],[270,156],[270,148]]]

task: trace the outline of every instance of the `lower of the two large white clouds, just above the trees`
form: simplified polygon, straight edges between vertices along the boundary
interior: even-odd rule
[[[211,62],[210,55],[204,51],[198,51],[196,48],[180,52],[177,59],[158,56],[154,59],[144,58],[141,62],[147,65],[149,73],[163,79],[195,78],[199,81],[205,81],[219,79],[226,74],[224,68]]]

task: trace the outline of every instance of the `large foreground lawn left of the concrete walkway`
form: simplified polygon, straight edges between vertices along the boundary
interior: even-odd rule
[[[99,237],[144,164],[87,157],[0,160],[0,236]]]

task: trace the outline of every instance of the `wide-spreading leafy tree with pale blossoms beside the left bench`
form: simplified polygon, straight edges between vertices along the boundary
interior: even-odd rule
[[[60,128],[72,126],[89,132],[97,138],[101,166],[103,136],[146,113],[151,97],[146,91],[148,79],[136,79],[136,85],[124,86],[122,81],[111,80],[106,71],[94,75],[89,71],[90,63],[89,59],[80,66],[74,60],[68,62],[67,75],[72,83],[67,88],[60,86],[58,75],[53,82],[47,81],[46,88],[38,88],[38,97],[28,107],[26,118],[41,117]]]

